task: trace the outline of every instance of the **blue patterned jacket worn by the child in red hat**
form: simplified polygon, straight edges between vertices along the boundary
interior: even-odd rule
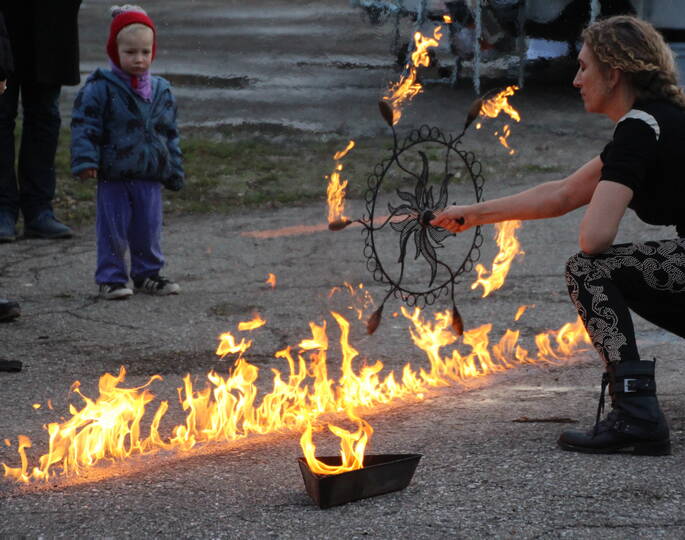
[[[152,77],[147,103],[111,71],[88,77],[71,118],[71,172],[85,169],[98,169],[102,180],[153,180],[181,189],[176,101],[168,81]]]

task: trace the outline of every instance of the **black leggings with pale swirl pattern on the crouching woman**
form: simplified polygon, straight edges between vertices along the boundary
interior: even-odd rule
[[[685,338],[685,238],[578,253],[566,263],[566,284],[607,363],[640,360],[629,310]]]

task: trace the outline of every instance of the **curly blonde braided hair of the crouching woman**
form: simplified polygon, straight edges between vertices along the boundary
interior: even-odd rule
[[[581,38],[602,64],[627,74],[638,99],[667,100],[685,109],[673,51],[651,24],[617,15],[590,24]]]

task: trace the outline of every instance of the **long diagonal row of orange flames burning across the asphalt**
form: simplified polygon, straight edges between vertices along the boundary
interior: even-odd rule
[[[348,436],[342,429],[331,429],[341,437],[346,452],[345,466],[351,466],[361,462],[362,443],[366,444],[371,434],[370,426],[352,412],[356,407],[397,399],[420,400],[432,387],[467,385],[470,378],[521,364],[559,363],[587,350],[590,343],[580,318],[557,332],[546,331],[536,336],[538,352],[533,356],[519,344],[518,331],[507,330],[491,345],[492,325],[486,324],[466,331],[463,341],[458,342],[451,330],[449,311],[436,314],[432,321],[424,320],[418,308],[410,313],[403,307],[402,314],[412,325],[412,341],[426,355],[427,368],[416,369],[406,364],[397,373],[384,374],[380,361],[355,365],[359,352],[350,344],[349,323],[342,315],[332,312],[340,330],[341,362],[337,380],[328,366],[326,321],[311,322],[312,336],[299,343],[299,352],[287,347],[275,354],[286,363],[286,372],[271,370],[271,391],[261,399],[257,385],[259,368],[242,356],[250,342],[241,341],[236,346],[230,334],[222,334],[219,349],[227,351],[236,347],[237,360],[226,376],[210,371],[201,390],[193,387],[190,375],[183,378],[178,393],[186,413],[185,421],[171,429],[166,437],[159,432],[159,426],[169,404],[161,401],[152,412],[154,395],[148,388],[161,379],[158,375],[142,386],[123,388],[120,385],[126,372],[122,367],[118,375],[104,374],[100,378],[96,399],[82,394],[76,382],[72,391],[83,400],[82,408],[71,405],[71,418],[48,424],[48,450],[38,458],[37,465],[29,465],[26,449],[31,448],[31,441],[20,435],[17,449],[20,465],[11,467],[3,463],[5,476],[29,483],[58,475],[78,475],[103,460],[124,460],[159,450],[187,452],[210,441],[231,441],[279,430],[304,430],[307,442],[311,438],[307,430],[312,429],[311,424],[320,415],[343,411],[357,419],[357,432]],[[456,346],[471,350],[464,353]],[[446,347],[451,350],[445,351]],[[142,419],[148,412],[152,419],[145,435]]]

